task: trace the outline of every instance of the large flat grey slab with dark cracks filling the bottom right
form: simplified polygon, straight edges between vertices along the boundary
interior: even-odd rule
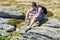
[[[50,27],[33,27],[27,33],[22,33],[22,37],[14,37],[12,39],[16,39],[16,40],[18,39],[19,40],[60,40],[60,30],[56,28],[50,28]]]

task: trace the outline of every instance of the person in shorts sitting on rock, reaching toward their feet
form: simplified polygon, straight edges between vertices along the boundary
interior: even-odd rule
[[[32,2],[32,8],[28,10],[25,18],[25,22],[28,22],[29,25],[27,26],[26,32],[32,28],[32,25],[35,21],[42,20],[44,18],[43,10],[39,7],[35,2]]]

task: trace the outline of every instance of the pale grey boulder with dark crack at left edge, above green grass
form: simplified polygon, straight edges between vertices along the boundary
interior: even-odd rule
[[[14,31],[14,26],[0,24],[0,36],[9,36]]]

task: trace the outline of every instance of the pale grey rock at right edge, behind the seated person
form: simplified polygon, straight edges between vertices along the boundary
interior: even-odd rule
[[[48,18],[47,26],[54,27],[54,28],[60,28],[60,20],[56,18]]]

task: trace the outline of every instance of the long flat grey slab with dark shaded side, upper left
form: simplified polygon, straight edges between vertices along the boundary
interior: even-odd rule
[[[12,8],[0,8],[0,17],[3,18],[20,18],[24,19],[25,15],[22,12]]]

